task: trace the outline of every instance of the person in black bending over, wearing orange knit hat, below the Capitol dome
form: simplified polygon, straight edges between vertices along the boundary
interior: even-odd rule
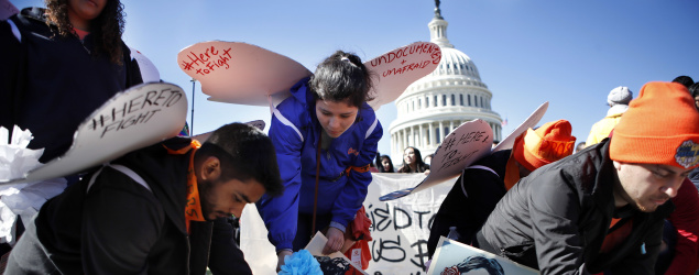
[[[533,170],[572,154],[576,138],[566,120],[528,129],[514,142],[512,150],[485,156],[461,172],[435,216],[427,252],[435,253],[440,235],[456,227],[459,242],[470,244],[488,215],[505,193]]]

